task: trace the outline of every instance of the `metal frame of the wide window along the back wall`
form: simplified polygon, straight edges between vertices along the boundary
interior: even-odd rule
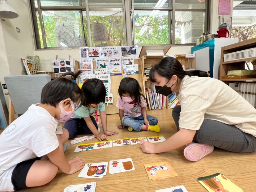
[[[175,11],[190,11],[190,12],[204,12],[205,13],[205,31],[209,31],[210,28],[210,5],[211,0],[205,1],[204,9],[175,9],[175,0],[168,0],[168,7],[147,7],[147,6],[134,6],[133,0],[122,0],[122,8],[89,8],[88,0],[85,0],[85,6],[82,6],[82,0],[79,0],[79,6],[41,6],[41,0],[37,1],[37,8],[35,6],[34,0],[30,0],[31,5],[31,14],[32,14],[32,23],[34,28],[34,39],[36,50],[56,50],[56,49],[76,49],[81,46],[72,46],[72,47],[47,47],[46,38],[45,38],[45,27],[43,21],[42,11],[65,11],[65,10],[76,10],[80,12],[81,16],[81,27],[82,27],[82,36],[83,36],[83,46],[92,47],[92,33],[91,33],[91,24],[90,24],[90,15],[89,11],[123,11],[124,18],[124,38],[125,38],[125,46],[127,45],[135,45],[135,27],[134,27],[134,10],[160,10],[160,11],[168,11],[168,19],[169,21],[174,21]],[[84,3],[84,2],[83,2]],[[43,40],[43,48],[41,47],[41,40],[39,36],[39,28],[37,23],[37,15],[36,11],[38,11],[39,21],[41,25],[41,33]],[[84,34],[84,24],[83,23],[83,15],[82,12],[86,11],[87,17],[87,30],[88,30],[88,41],[86,42],[85,34]],[[172,45],[172,46],[193,46],[195,43],[186,43],[186,44],[175,44],[175,22],[168,22],[169,26],[169,44],[163,45]],[[128,28],[130,30],[128,30]],[[160,45],[160,44],[157,44]]]

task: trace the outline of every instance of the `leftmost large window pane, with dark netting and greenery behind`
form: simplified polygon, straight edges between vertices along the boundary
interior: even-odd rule
[[[47,47],[82,46],[79,11],[42,11]]]

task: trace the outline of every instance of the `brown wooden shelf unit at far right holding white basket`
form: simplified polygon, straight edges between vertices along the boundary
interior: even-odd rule
[[[219,74],[220,80],[226,84],[235,82],[235,81],[256,81],[256,78],[225,79],[223,77],[223,76],[226,76],[228,71],[230,71],[230,70],[244,70],[245,63],[247,63],[247,62],[256,62],[256,57],[237,59],[237,60],[233,60],[233,61],[224,62],[224,54],[242,51],[245,49],[250,49],[250,48],[255,48],[255,47],[256,47],[256,38],[222,47],[221,48],[221,58],[220,58],[220,74]]]

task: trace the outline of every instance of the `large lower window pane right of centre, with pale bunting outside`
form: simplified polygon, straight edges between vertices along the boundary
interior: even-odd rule
[[[175,11],[175,43],[196,43],[204,32],[204,12]]]

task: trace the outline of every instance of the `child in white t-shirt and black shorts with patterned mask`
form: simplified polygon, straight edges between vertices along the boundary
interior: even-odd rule
[[[42,89],[41,103],[31,105],[0,135],[0,191],[45,185],[58,169],[73,174],[84,167],[84,161],[78,157],[66,160],[63,143],[69,135],[58,126],[59,121],[74,116],[83,98],[74,83],[79,73],[63,76],[66,75],[73,80],[61,77],[47,83]],[[40,158],[45,155],[49,160]]]

